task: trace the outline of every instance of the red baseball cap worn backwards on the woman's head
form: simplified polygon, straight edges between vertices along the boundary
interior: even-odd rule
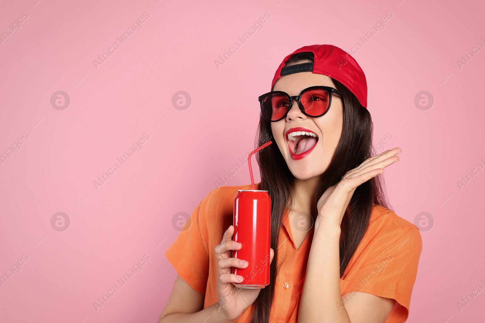
[[[315,57],[314,62],[285,67],[285,62],[290,59],[291,55],[301,52],[312,52]],[[356,60],[341,48],[333,45],[311,45],[298,48],[285,57],[279,65],[271,83],[271,89],[278,78],[298,72],[312,72],[335,78],[354,93],[359,103],[367,108],[367,81],[364,71]]]

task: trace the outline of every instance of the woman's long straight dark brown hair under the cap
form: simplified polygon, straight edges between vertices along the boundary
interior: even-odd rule
[[[291,56],[286,64],[301,61],[313,62],[313,53],[297,53]],[[364,160],[375,154],[372,147],[373,127],[369,111],[362,107],[356,96],[347,87],[336,79],[332,78],[332,81],[343,95],[342,134],[333,158],[321,176],[315,205],[327,188],[336,185],[347,171],[356,168]],[[271,123],[260,116],[256,147],[264,144],[268,136],[273,137]],[[293,203],[294,176],[291,174],[277,145],[266,147],[257,154],[256,159],[261,174],[259,189],[268,190],[272,201],[271,247],[275,251],[275,257],[270,266],[270,285],[261,289],[254,302],[253,323],[267,323],[269,322],[270,307],[275,292],[278,235],[282,226],[283,212],[285,208],[290,210]],[[347,264],[369,226],[373,204],[389,208],[383,183],[381,176],[363,183],[356,188],[349,202],[341,223],[340,277],[344,274]],[[314,211],[316,214],[316,206]]]

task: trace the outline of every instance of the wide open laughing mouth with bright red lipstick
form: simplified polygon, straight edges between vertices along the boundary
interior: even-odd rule
[[[291,128],[286,132],[286,141],[291,158],[298,160],[305,158],[317,145],[318,136],[306,128]]]

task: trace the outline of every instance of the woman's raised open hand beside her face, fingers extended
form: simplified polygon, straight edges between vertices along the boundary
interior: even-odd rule
[[[355,169],[349,170],[336,185],[330,186],[318,200],[318,222],[325,222],[340,227],[345,210],[357,186],[372,177],[384,173],[389,165],[399,161],[397,154],[401,148],[394,148],[366,159]]]

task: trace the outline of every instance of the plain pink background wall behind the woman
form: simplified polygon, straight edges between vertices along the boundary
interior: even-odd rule
[[[357,42],[374,143],[389,134],[382,149],[403,150],[386,170],[391,204],[410,222],[420,212],[435,221],[421,232],[408,322],[483,318],[485,292],[462,311],[456,304],[485,287],[485,171],[457,184],[485,166],[485,49],[457,63],[485,45],[483,1],[158,1],[2,3],[0,31],[28,18],[0,44],[0,153],[28,139],[0,166],[0,274],[22,255],[28,261],[0,286],[1,322],[156,322],[176,277],[163,255],[178,235],[172,219],[191,214],[249,152],[257,97],[281,60],[305,45],[350,52]],[[142,29],[120,45],[116,37],[145,12]],[[238,36],[266,12],[242,44]],[[388,12],[385,29],[363,44]],[[241,48],[217,68],[235,42]],[[71,100],[62,111],[50,104],[57,91]],[[174,108],[178,91],[190,94],[190,108]],[[415,106],[420,91],[433,95],[431,109]],[[145,133],[142,150],[96,189]],[[248,183],[244,165],[227,185]],[[68,230],[51,226],[57,212],[68,215]],[[97,297],[144,255],[142,271],[96,311]]]

